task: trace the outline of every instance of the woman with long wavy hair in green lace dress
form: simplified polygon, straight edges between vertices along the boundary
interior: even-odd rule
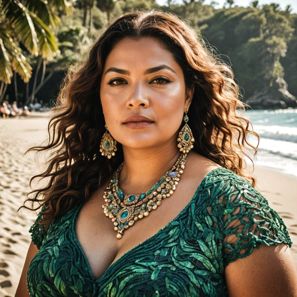
[[[244,173],[257,133],[232,71],[176,15],[115,20],[59,102],[31,148],[57,150],[16,296],[296,292],[286,226]]]

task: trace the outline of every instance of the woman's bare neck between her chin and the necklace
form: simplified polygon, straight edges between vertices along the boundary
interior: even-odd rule
[[[170,170],[181,155],[176,139],[159,147],[131,149],[123,146],[124,163],[119,185],[125,195],[141,194],[150,189]]]

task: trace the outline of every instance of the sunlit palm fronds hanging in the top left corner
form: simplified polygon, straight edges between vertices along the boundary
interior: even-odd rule
[[[23,55],[25,47],[33,56],[53,59],[58,47],[52,33],[59,23],[55,12],[71,13],[68,0],[2,0],[0,1],[0,103],[13,71],[24,82],[32,75],[32,67]]]

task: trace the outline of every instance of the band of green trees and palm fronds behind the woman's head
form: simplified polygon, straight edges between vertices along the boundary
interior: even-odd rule
[[[64,72],[80,60],[113,18],[132,8],[158,7],[155,0],[77,0],[69,17],[70,0],[0,3],[0,80],[6,83],[14,70],[28,81],[32,68],[37,67],[37,56],[46,58],[47,72]],[[290,13],[290,7],[282,11],[275,3],[260,7],[258,1],[251,1],[246,8],[234,3],[228,0],[228,8],[215,9],[215,1],[204,5],[201,0],[185,0],[183,4],[169,0],[161,9],[183,18],[202,35],[209,50],[216,49],[217,57],[232,67],[244,90],[244,101],[257,92],[286,84],[297,96],[297,15]]]

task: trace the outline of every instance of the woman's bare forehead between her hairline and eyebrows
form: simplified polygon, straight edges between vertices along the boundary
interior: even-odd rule
[[[107,69],[110,66],[125,67],[124,69],[128,69],[128,66],[145,68],[159,64],[170,64],[172,68],[179,67],[173,54],[165,49],[165,46],[157,38],[141,37],[135,40],[126,37],[110,51],[104,68]]]

